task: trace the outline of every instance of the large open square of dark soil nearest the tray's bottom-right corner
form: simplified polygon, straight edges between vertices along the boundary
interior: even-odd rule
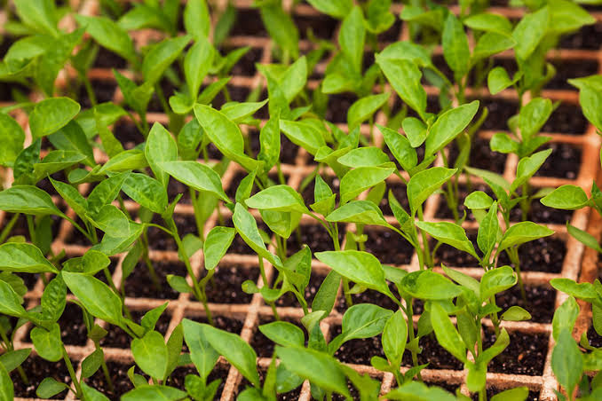
[[[509,332],[508,334],[510,334],[510,344],[489,363],[487,370],[494,373],[542,375],[543,364],[548,353],[549,334],[521,332]],[[483,348],[491,347],[494,342],[494,332],[485,329]]]

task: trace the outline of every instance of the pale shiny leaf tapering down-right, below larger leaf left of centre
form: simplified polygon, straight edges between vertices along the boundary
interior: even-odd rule
[[[194,188],[217,195],[221,200],[230,202],[222,188],[219,174],[210,167],[197,161],[163,161],[160,168],[171,177]]]

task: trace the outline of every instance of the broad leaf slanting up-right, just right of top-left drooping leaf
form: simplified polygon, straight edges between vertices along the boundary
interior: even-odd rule
[[[179,53],[189,42],[190,36],[184,35],[154,44],[142,61],[142,74],[145,81],[151,84],[157,83],[167,67],[178,58]]]

